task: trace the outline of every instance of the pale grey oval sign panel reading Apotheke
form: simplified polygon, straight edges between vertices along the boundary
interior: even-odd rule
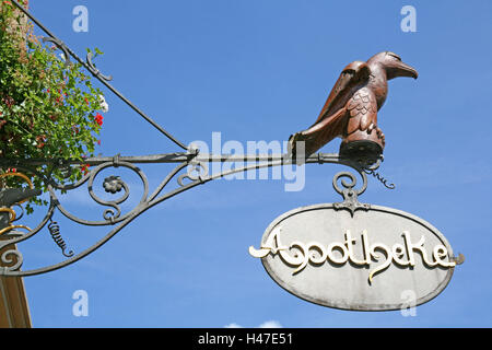
[[[343,310],[389,311],[440,294],[456,265],[446,238],[403,211],[371,206],[336,210],[303,207],[277,218],[259,248],[265,269],[306,301]]]

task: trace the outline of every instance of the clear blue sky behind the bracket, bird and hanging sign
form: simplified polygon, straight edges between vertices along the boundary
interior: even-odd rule
[[[79,4],[89,9],[87,33],[72,30]],[[407,4],[417,10],[415,33],[400,30]],[[102,72],[185,143],[211,142],[214,131],[224,141],[285,140],[316,119],[347,63],[399,54],[420,75],[391,81],[379,112],[387,142],[380,173],[397,188],[370,178],[361,201],[423,218],[466,256],[415,317],[317,306],[278,287],[247,247],[283,212],[339,201],[331,178],[343,167],[306,166],[296,192],[279,179],[222,179],[149,210],[85,259],[25,278],[35,327],[492,326],[490,1],[32,0],[32,12],[80,56],[102,49]],[[109,91],[106,100],[97,153],[180,151]],[[142,170],[152,190],[171,167]],[[121,174],[134,203],[138,178]],[[82,218],[104,210],[86,191],[63,198]],[[78,250],[109,230],[56,219]],[[61,260],[47,230],[20,248],[24,269]],[[87,317],[72,315],[77,290],[89,294]]]

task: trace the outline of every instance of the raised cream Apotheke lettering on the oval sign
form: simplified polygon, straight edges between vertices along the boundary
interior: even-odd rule
[[[424,247],[425,237],[422,235],[417,243],[413,243],[414,241],[412,242],[408,231],[402,232],[402,244],[395,243],[393,246],[388,246],[384,243],[370,244],[368,233],[364,230],[361,234],[362,252],[360,252],[360,255],[362,257],[356,257],[354,245],[358,240],[352,236],[350,230],[345,231],[344,242],[332,242],[327,246],[318,242],[303,243],[298,241],[294,241],[286,246],[280,241],[281,232],[282,229],[277,226],[259,249],[250,246],[249,254],[256,258],[265,258],[269,254],[279,254],[285,264],[295,268],[292,275],[301,272],[308,262],[320,266],[327,260],[336,265],[343,265],[350,261],[359,266],[371,266],[373,260],[379,261],[383,255],[384,260],[370,271],[368,282],[371,284],[374,276],[386,270],[391,262],[400,267],[415,266],[415,253],[421,255],[422,261],[427,267],[441,266],[450,268],[456,265],[455,261],[447,259],[448,252],[444,245],[435,245],[432,254],[427,255],[427,250]]]

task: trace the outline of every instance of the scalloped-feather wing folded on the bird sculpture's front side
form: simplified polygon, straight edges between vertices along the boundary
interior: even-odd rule
[[[377,124],[377,102],[374,93],[366,89],[359,89],[347,104],[350,114],[347,135],[358,130],[365,131],[371,124]]]

